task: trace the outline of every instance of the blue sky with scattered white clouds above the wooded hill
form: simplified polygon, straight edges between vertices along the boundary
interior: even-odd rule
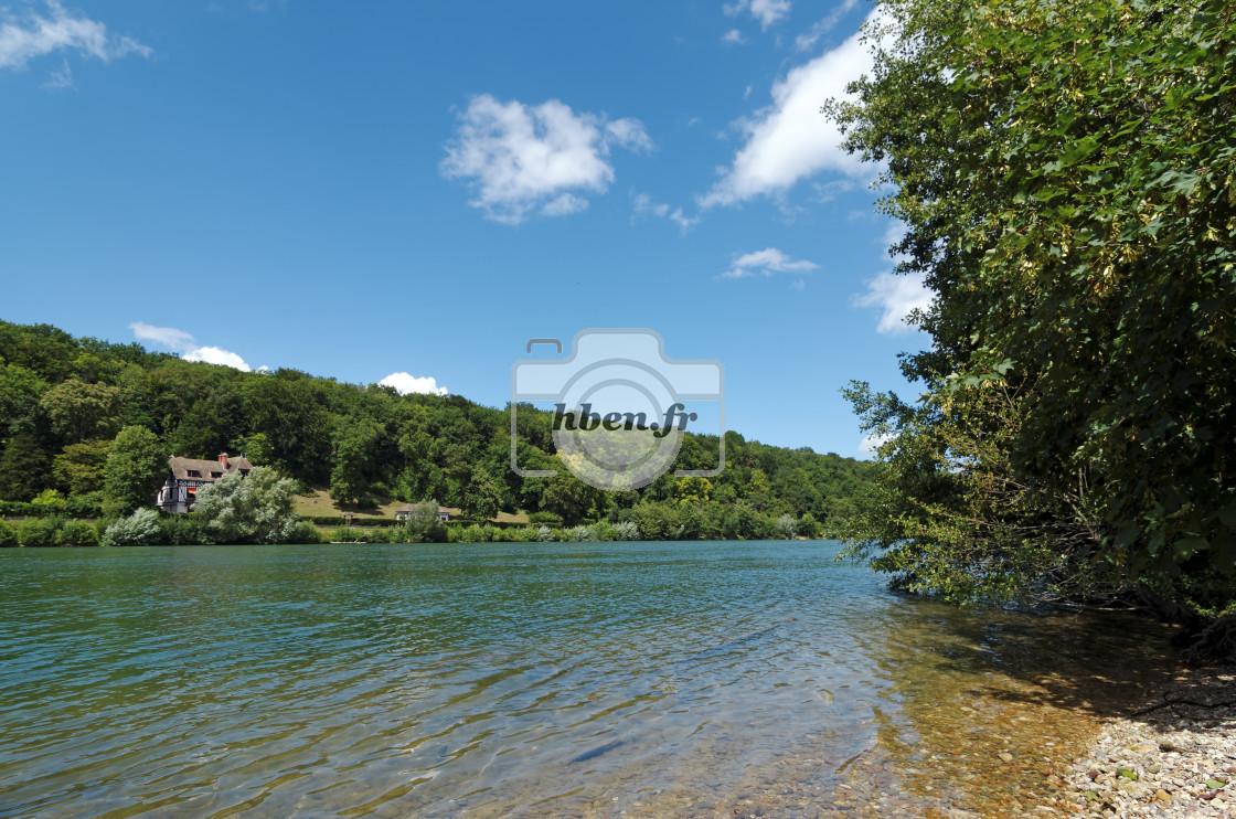
[[[529,338],[648,327],[857,455],[928,297],[818,114],[869,12],[9,0],[0,318],[498,407]]]

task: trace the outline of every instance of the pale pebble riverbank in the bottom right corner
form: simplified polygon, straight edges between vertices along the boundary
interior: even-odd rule
[[[1183,669],[1107,720],[1068,786],[1067,802],[1094,814],[1236,817],[1236,667]]]

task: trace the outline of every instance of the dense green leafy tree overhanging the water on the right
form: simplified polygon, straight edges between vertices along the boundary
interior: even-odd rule
[[[1220,0],[891,0],[826,111],[936,292],[855,549],[950,599],[1231,600],[1236,19]]]

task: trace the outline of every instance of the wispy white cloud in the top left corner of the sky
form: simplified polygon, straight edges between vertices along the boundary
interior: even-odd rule
[[[31,10],[20,17],[0,7],[0,68],[21,69],[36,57],[67,49],[105,63],[127,54],[153,53],[131,37],[109,33],[101,22],[67,11],[57,0],[47,0],[46,6],[46,16]]]

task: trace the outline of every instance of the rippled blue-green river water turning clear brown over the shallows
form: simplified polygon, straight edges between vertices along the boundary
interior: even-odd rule
[[[1063,753],[1161,666],[1141,624],[962,612],[836,551],[5,551],[0,817],[929,814],[1018,798],[996,746]]]

